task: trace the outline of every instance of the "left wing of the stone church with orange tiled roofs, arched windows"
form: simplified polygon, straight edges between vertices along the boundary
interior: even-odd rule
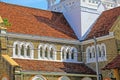
[[[96,80],[62,13],[0,2],[0,16],[0,80]]]

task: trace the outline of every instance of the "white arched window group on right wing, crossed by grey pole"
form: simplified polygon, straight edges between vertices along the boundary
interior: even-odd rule
[[[104,43],[97,44],[97,54],[98,54],[98,61],[105,61],[106,60],[106,46]],[[95,62],[95,46],[88,46],[86,48],[86,61],[87,63]]]

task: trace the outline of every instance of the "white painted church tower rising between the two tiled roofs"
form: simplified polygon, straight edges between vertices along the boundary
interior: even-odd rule
[[[119,0],[47,0],[48,10],[62,12],[79,40],[84,40],[96,19],[105,10],[120,5]],[[50,4],[51,2],[51,4]]]

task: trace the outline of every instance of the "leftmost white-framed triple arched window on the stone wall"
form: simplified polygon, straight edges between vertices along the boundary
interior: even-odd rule
[[[16,41],[13,43],[13,57],[33,58],[33,49],[32,43]]]

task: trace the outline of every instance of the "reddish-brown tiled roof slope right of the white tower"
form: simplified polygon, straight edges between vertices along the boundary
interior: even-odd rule
[[[97,19],[86,39],[92,39],[94,36],[101,37],[108,35],[110,28],[112,27],[118,16],[120,16],[120,7],[104,11]]]

